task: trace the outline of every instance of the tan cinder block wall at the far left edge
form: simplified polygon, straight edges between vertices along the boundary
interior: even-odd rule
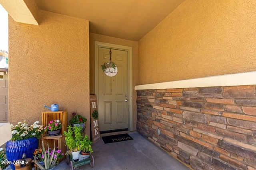
[[[0,123],[8,122],[8,80],[0,80]]]

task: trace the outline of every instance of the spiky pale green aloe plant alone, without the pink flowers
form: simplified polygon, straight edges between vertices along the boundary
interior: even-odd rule
[[[48,150],[45,150],[43,141],[42,141],[42,146],[43,146],[42,155],[44,155],[44,166],[42,166],[37,162],[36,156],[34,161],[35,161],[35,164],[38,166],[38,168],[42,170],[48,170],[50,168],[53,168],[56,165],[56,161],[58,159],[59,153],[57,153],[56,155],[55,154],[50,155],[50,149],[49,149],[48,143],[47,143]],[[54,142],[54,148],[52,150],[52,153],[55,153],[55,142]]]

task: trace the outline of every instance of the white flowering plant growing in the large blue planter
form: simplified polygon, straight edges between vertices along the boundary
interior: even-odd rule
[[[41,138],[42,133],[44,133],[43,125],[39,125],[39,121],[36,121],[33,125],[28,126],[27,122],[18,122],[17,125],[11,125],[12,139],[11,141],[29,139],[36,137]]]

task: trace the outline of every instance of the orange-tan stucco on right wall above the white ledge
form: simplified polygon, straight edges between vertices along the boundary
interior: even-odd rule
[[[255,15],[256,1],[184,1],[138,42],[138,84],[256,70]]]

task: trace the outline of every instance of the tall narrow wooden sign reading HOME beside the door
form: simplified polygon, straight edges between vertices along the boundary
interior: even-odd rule
[[[97,96],[90,95],[90,117],[91,117],[91,134],[92,142],[96,143],[100,141],[100,127],[99,127],[99,117],[98,117],[98,106],[97,106]]]

